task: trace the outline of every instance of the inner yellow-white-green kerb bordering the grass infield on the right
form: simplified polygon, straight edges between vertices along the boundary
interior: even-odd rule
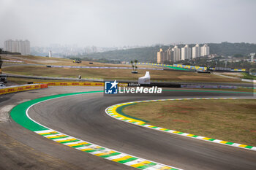
[[[161,99],[161,100],[149,100],[149,101],[132,101],[132,102],[127,102],[127,103],[121,103],[121,104],[115,104],[113,106],[108,107],[105,112],[107,115],[109,115],[110,117],[113,117],[117,120],[121,120],[127,123],[132,123],[134,125],[140,125],[143,126],[145,128],[151,128],[157,131],[163,131],[166,133],[170,133],[170,134],[176,134],[176,135],[181,135],[181,136],[185,136],[185,137],[190,137],[190,138],[194,138],[194,139],[200,139],[206,142],[214,142],[217,144],[225,144],[227,146],[232,146],[232,147],[239,147],[242,149],[246,149],[246,150],[254,150],[256,151],[256,147],[252,147],[246,144],[237,144],[237,143],[233,143],[233,142],[227,142],[227,141],[223,141],[223,140],[219,140],[219,139],[212,139],[212,138],[208,138],[205,136],[197,136],[195,134],[187,134],[181,131],[173,131],[167,128],[160,128],[154,125],[148,125],[145,120],[139,120],[135,117],[127,117],[126,115],[124,115],[122,112],[118,111],[120,109],[118,109],[119,107],[126,107],[129,106],[130,104],[138,104],[141,102],[155,102],[155,101],[181,101],[181,100],[217,100],[217,99],[238,99],[238,98],[176,98],[176,99]]]

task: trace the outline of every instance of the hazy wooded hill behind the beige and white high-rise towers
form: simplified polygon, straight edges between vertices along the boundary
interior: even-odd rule
[[[249,55],[249,53],[256,52],[256,44],[249,43],[208,43],[210,47],[210,54],[234,56],[234,55]],[[189,45],[193,47],[195,44]],[[202,45],[201,45],[202,46]],[[162,46],[166,50],[169,46]],[[171,46],[173,47],[173,46]],[[184,47],[184,45],[178,45],[178,47]],[[141,47],[129,50],[114,50],[104,53],[94,53],[88,55],[81,55],[80,58],[107,58],[107,59],[119,59],[121,61],[131,61],[137,59],[140,62],[156,62],[157,61],[157,51],[159,51],[159,46],[155,47]]]

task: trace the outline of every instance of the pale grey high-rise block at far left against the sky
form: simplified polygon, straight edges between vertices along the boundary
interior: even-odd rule
[[[30,54],[30,42],[29,40],[12,40],[4,41],[4,50],[12,53],[21,53],[21,55]]]

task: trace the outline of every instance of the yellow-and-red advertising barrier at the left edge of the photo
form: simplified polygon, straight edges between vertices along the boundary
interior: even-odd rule
[[[10,87],[0,88],[0,95],[6,93],[15,93],[24,90],[35,90],[39,88],[48,88],[48,85],[45,83],[36,83],[33,85],[13,85]]]

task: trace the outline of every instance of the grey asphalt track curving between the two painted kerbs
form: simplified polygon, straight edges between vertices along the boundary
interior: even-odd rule
[[[251,97],[240,93],[184,90],[166,92],[162,96],[141,96],[136,100],[241,95]],[[37,104],[29,109],[29,116],[64,134],[181,169],[256,168],[253,151],[152,131],[114,120],[105,114],[108,106],[128,101],[135,101],[135,98],[118,95],[106,97],[102,93],[69,96]]]

